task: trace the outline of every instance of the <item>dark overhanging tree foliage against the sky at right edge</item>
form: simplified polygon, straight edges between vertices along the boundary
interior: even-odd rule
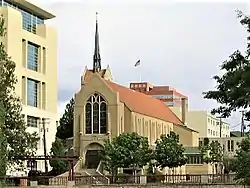
[[[247,109],[250,105],[250,17],[238,12],[240,23],[246,27],[248,45],[246,54],[236,50],[229,56],[229,60],[222,63],[220,69],[222,76],[214,76],[217,82],[215,90],[204,92],[204,98],[216,100],[220,106],[212,110],[212,114],[221,114],[229,117],[231,112],[237,109]],[[250,111],[247,109],[246,117],[250,119]]]

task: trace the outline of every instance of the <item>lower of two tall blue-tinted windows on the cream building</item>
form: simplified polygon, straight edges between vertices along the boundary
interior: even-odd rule
[[[38,82],[27,79],[27,105],[37,107]]]

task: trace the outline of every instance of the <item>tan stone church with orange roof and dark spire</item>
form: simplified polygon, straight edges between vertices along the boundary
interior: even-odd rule
[[[102,68],[97,21],[93,67],[85,67],[81,77],[74,116],[74,154],[83,159],[84,168],[97,168],[104,140],[124,132],[145,136],[154,147],[161,134],[174,131],[184,146],[198,146],[198,132],[186,127],[166,104],[115,83],[110,67]]]

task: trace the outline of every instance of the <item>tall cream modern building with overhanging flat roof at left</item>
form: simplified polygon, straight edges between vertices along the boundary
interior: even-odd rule
[[[16,94],[22,99],[29,132],[40,136],[37,155],[44,155],[43,123],[49,153],[58,123],[57,32],[45,24],[55,16],[25,0],[1,0],[7,35],[1,41],[16,63]],[[44,120],[44,121],[42,121]],[[44,170],[44,161],[37,169]],[[49,167],[50,169],[50,167]],[[25,172],[9,172],[24,175]]]

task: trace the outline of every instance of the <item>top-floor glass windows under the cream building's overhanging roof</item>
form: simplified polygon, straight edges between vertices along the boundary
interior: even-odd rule
[[[36,33],[36,25],[37,24],[44,24],[44,19],[40,18],[39,16],[36,16],[26,10],[23,10],[22,8],[20,8],[19,6],[15,5],[14,3],[10,3],[10,2],[5,2],[5,1],[1,1],[0,6],[9,6],[9,7],[13,7],[17,10],[19,10],[22,14],[22,18],[23,18],[23,29],[30,31],[32,33]]]

